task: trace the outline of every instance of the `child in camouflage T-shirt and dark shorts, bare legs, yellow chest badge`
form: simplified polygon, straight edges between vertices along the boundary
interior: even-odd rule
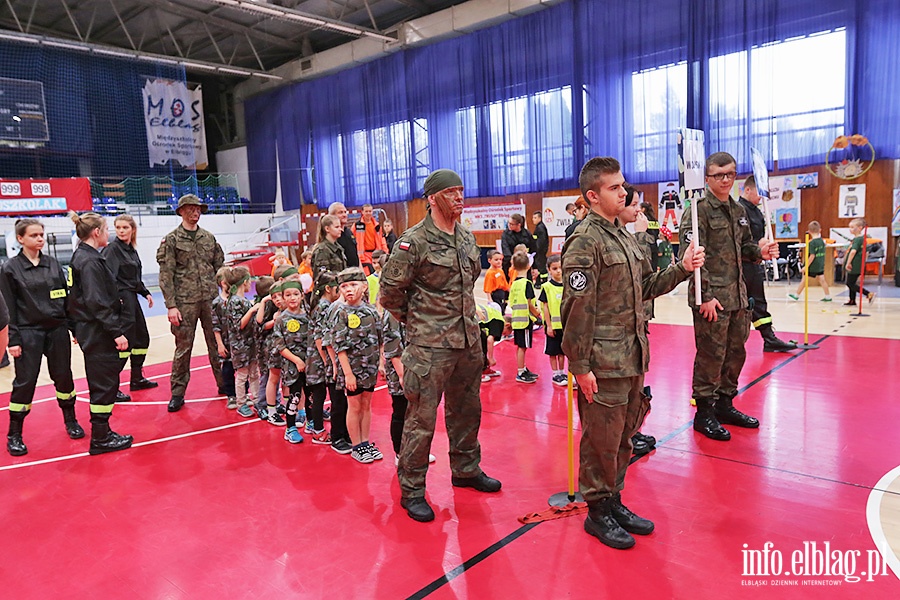
[[[334,316],[332,347],[338,358],[338,386],[347,394],[347,430],[353,451],[361,463],[384,458],[369,440],[372,392],[378,379],[381,351],[381,317],[368,299],[366,274],[359,267],[338,274],[344,304]]]

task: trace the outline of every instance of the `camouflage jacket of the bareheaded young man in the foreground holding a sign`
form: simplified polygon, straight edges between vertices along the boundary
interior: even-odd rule
[[[657,272],[640,244],[618,221],[588,213],[562,252],[563,352],[575,375],[634,377],[647,371],[643,303],[671,291],[688,271]]]

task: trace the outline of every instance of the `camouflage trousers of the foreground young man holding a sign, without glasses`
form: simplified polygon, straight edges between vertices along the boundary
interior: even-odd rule
[[[650,409],[644,376],[597,379],[597,394],[589,403],[578,390],[581,419],[578,485],[585,502],[599,502],[625,487],[631,461],[631,436]]]

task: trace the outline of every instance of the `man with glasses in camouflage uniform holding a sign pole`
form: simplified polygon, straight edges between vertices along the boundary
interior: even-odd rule
[[[731,433],[722,423],[759,427],[759,421],[734,407],[738,376],[747,358],[744,344],[750,336],[750,311],[741,264],[778,258],[778,244],[763,238],[759,244],[750,234],[744,207],[731,199],[737,166],[727,152],[716,152],[706,160],[706,196],[697,201],[697,231],[700,242],[712,248],[710,260],[700,270],[701,304],[694,300],[694,280],[688,290],[688,305],[694,313],[693,394],[697,402],[694,430],[714,440],[728,441]],[[690,242],[691,211],[685,210],[681,237]],[[683,253],[683,250],[682,250]]]

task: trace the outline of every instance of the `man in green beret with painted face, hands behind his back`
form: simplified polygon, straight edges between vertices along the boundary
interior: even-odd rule
[[[381,305],[406,325],[408,343],[402,357],[409,408],[397,469],[400,505],[423,522],[434,519],[425,499],[425,475],[442,395],[452,484],[500,490],[500,482],[479,466],[484,356],[473,289],[481,260],[475,236],[457,222],[462,180],[439,169],[425,180],[425,198],[425,220],[398,238],[381,274]]]

